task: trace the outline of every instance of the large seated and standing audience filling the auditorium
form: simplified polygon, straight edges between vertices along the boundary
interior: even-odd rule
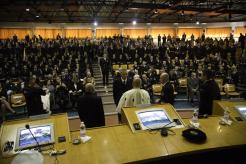
[[[50,92],[52,109],[66,111],[68,101],[76,101],[84,93],[86,83],[94,83],[92,63],[99,61],[103,84],[107,86],[108,73],[114,78],[116,105],[125,91],[132,88],[134,75],[142,79],[142,88],[151,95],[152,84],[165,83],[165,77],[178,87],[182,77],[201,78],[203,70],[211,70],[224,83],[245,83],[239,78],[239,64],[246,63],[246,36],[235,41],[231,35],[212,39],[203,34],[199,38],[181,38],[170,35],[132,39],[113,36],[101,39],[61,38],[43,39],[28,35],[25,39],[13,36],[0,40],[0,81],[6,100],[13,93],[25,92],[30,81]],[[128,72],[115,71],[114,64],[134,64]],[[118,73],[119,72],[119,73]],[[167,75],[160,75],[166,73]],[[163,79],[162,79],[163,78]],[[88,81],[88,82],[87,82]],[[129,82],[128,82],[129,81]],[[127,86],[119,86],[119,83]],[[130,83],[130,86],[129,86]],[[173,102],[173,100],[170,100]]]

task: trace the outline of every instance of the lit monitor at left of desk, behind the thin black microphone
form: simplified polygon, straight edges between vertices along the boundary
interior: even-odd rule
[[[40,146],[52,144],[54,140],[54,126],[52,123],[30,126],[30,130]],[[33,138],[29,129],[21,127],[17,130],[15,150],[24,150],[37,147],[37,142]]]

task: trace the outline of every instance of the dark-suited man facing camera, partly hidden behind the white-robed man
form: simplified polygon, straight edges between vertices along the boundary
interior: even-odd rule
[[[127,71],[122,70],[120,78],[114,79],[113,83],[113,97],[115,105],[117,106],[121,96],[126,91],[132,88],[132,80],[127,78]]]

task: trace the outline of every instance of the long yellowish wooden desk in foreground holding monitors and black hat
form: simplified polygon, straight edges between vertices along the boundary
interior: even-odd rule
[[[246,121],[238,122],[234,120],[231,126],[222,126],[219,124],[220,118],[221,116],[216,116],[199,120],[200,129],[207,135],[207,141],[202,144],[185,140],[182,137],[182,131],[185,128],[173,129],[175,135],[162,137],[159,131],[133,133],[129,125],[119,125],[88,129],[87,135],[92,137],[91,140],[87,143],[73,145],[71,140],[79,136],[79,131],[69,132],[66,114],[51,116],[48,119],[38,120],[36,123],[54,123],[56,138],[54,146],[57,149],[66,149],[67,151],[66,154],[58,156],[60,164],[139,163],[140,161],[156,162],[159,160],[186,162],[190,159],[197,159],[197,156],[201,153],[203,154],[202,159],[208,159],[211,157],[211,155],[207,155],[210,152],[223,152],[223,150],[232,149],[233,151],[229,151],[226,155],[220,153],[216,157],[221,160],[222,158],[233,158],[236,161],[242,155],[235,154],[235,148],[240,148],[241,153],[244,153],[246,149]],[[6,122],[1,131],[1,145],[15,133],[12,130],[13,127],[24,125],[27,121]],[[34,124],[30,120],[28,122]],[[183,122],[188,125],[189,119],[184,119]],[[67,141],[58,143],[57,137],[62,135],[66,136]],[[204,152],[206,156],[204,156]],[[0,163],[11,163],[12,158],[13,156],[1,157]],[[54,157],[48,155],[44,155],[44,159],[47,164],[55,161]]]

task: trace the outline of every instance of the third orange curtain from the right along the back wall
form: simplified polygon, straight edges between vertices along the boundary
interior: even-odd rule
[[[198,38],[202,35],[202,29],[201,28],[178,28],[178,34],[179,38],[182,37],[183,34],[186,34],[186,38],[191,37],[193,34],[195,38]]]

